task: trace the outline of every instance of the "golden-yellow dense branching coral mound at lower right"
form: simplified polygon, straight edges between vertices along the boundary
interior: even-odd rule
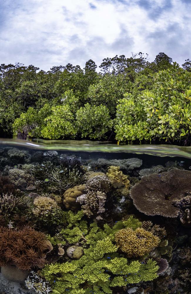
[[[115,242],[128,257],[143,257],[160,243],[160,239],[143,228],[125,228],[115,234]]]

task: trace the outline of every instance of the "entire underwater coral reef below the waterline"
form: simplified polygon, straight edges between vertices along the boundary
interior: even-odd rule
[[[191,149],[40,141],[0,141],[0,294],[191,293]]]

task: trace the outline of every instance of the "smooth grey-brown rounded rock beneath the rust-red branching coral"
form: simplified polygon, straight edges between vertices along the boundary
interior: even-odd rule
[[[30,271],[20,270],[15,265],[1,266],[2,276],[10,282],[24,283],[29,273]]]

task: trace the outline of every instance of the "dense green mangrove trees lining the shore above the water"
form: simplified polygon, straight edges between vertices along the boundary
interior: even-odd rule
[[[190,60],[165,53],[67,64],[0,66],[1,136],[190,144]]]

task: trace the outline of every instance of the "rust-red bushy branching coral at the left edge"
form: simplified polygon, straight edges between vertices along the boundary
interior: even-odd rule
[[[32,228],[22,230],[0,228],[0,265],[16,265],[21,270],[42,267],[45,260],[38,252],[46,250],[46,236]]]

